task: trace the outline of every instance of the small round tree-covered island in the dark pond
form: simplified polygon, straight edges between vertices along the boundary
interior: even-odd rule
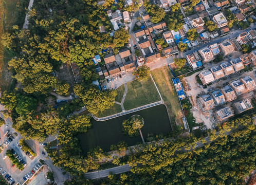
[[[139,135],[139,130],[144,125],[144,120],[139,115],[133,115],[122,123],[122,132],[130,137]]]

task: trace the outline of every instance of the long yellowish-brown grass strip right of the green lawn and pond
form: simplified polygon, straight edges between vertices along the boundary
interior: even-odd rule
[[[151,75],[160,91],[164,104],[167,106],[170,121],[173,122],[173,119],[180,117],[181,107],[172,83],[172,73],[168,66],[164,66],[151,71]]]

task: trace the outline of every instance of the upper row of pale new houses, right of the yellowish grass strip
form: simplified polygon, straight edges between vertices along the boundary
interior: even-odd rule
[[[243,54],[240,58],[232,59],[229,62],[223,62],[220,66],[213,66],[210,70],[204,70],[199,73],[199,78],[203,85],[209,84],[214,80],[218,80],[234,72],[244,69],[249,63],[256,63],[256,50],[251,53]]]

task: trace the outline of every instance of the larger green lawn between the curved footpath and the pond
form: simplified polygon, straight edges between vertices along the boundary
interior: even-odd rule
[[[134,80],[126,85],[128,91],[123,103],[125,110],[130,110],[161,100],[151,78],[146,82]]]

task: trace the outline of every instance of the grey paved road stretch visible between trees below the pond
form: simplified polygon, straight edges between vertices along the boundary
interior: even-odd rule
[[[87,179],[97,179],[97,178],[107,177],[110,172],[112,172],[113,174],[120,174],[120,173],[123,173],[123,172],[130,171],[131,168],[132,167],[130,167],[129,164],[125,164],[125,165],[121,165],[119,167],[115,167],[115,168],[111,168],[111,169],[86,173],[85,178],[87,178]]]

